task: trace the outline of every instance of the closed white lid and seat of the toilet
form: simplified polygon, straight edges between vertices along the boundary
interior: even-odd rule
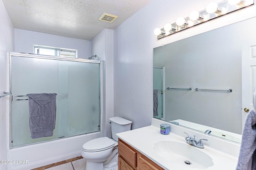
[[[98,152],[114,147],[115,142],[108,137],[100,137],[92,139],[83,145],[83,150],[86,152]]]

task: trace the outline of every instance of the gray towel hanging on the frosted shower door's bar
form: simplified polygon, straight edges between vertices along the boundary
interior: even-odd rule
[[[56,119],[56,93],[27,94],[31,138],[53,135]]]

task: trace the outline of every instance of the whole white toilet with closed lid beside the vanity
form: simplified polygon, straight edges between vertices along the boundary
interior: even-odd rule
[[[116,133],[131,130],[132,121],[122,117],[111,117],[112,139],[100,137],[83,145],[82,157],[86,159],[86,170],[118,170],[118,137]]]

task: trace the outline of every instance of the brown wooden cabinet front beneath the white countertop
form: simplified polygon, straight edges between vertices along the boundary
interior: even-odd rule
[[[118,170],[164,170],[121,139],[118,139]]]

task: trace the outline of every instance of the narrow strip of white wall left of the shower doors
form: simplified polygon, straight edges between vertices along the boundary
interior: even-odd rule
[[[0,0],[0,95],[3,91],[9,92],[7,88],[7,55],[6,51],[14,50],[14,27],[6,12],[2,0]],[[0,98],[0,160],[7,160],[8,126],[7,114],[9,96]],[[6,170],[6,165],[1,164],[0,170]]]

